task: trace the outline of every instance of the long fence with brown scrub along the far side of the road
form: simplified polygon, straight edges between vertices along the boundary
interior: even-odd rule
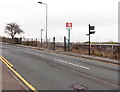
[[[10,38],[2,37],[3,42],[12,43]],[[39,38],[15,38],[15,44],[22,44],[27,46],[35,46],[40,48],[47,48],[49,50],[64,51],[64,42],[54,42],[52,39],[41,43]],[[66,43],[67,45],[67,43]],[[91,44],[91,55],[118,59],[119,45],[118,44]],[[87,43],[71,43],[70,52],[88,54],[89,45]]]

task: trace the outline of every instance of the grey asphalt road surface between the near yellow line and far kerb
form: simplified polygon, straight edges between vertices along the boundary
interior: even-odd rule
[[[118,65],[2,44],[2,56],[37,90],[118,89]]]

